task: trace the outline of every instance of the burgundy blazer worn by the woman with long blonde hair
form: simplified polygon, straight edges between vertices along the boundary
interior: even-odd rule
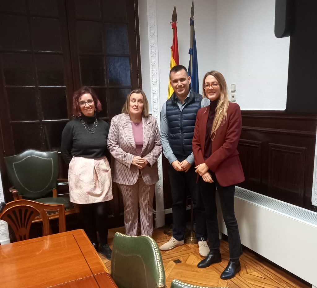
[[[239,152],[236,149],[242,129],[240,107],[236,103],[229,103],[227,119],[216,131],[216,136],[212,141],[210,157],[204,160],[209,110],[210,106],[201,108],[197,112],[192,141],[195,164],[197,166],[201,163],[206,163],[209,169],[216,174],[218,183],[223,187],[241,183],[245,178],[239,159]]]

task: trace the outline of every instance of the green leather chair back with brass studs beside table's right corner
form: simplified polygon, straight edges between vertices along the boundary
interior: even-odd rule
[[[115,233],[111,276],[119,288],[165,287],[165,272],[157,243],[148,236]]]

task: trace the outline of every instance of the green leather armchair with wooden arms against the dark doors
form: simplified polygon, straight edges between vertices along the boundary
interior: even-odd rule
[[[14,156],[4,157],[7,173],[13,187],[9,190],[13,200],[33,200],[44,204],[64,204],[65,214],[79,212],[78,205],[69,197],[57,197],[58,152],[43,152],[29,149]],[[52,212],[49,219],[57,218]],[[33,222],[41,221],[35,219]]]

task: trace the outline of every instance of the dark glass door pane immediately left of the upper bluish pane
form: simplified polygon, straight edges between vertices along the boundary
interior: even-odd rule
[[[102,52],[102,25],[77,21],[77,43],[80,52]]]

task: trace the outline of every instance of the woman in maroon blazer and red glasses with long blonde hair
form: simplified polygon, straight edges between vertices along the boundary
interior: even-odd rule
[[[220,277],[230,279],[240,271],[239,257],[242,255],[234,212],[235,185],[244,181],[236,149],[242,128],[241,111],[238,104],[229,102],[227,84],[221,73],[208,72],[204,76],[203,88],[203,96],[210,100],[210,105],[198,110],[192,144],[197,181],[205,206],[210,253],[197,266],[205,268],[221,262],[217,188],[230,253],[230,261]]]

